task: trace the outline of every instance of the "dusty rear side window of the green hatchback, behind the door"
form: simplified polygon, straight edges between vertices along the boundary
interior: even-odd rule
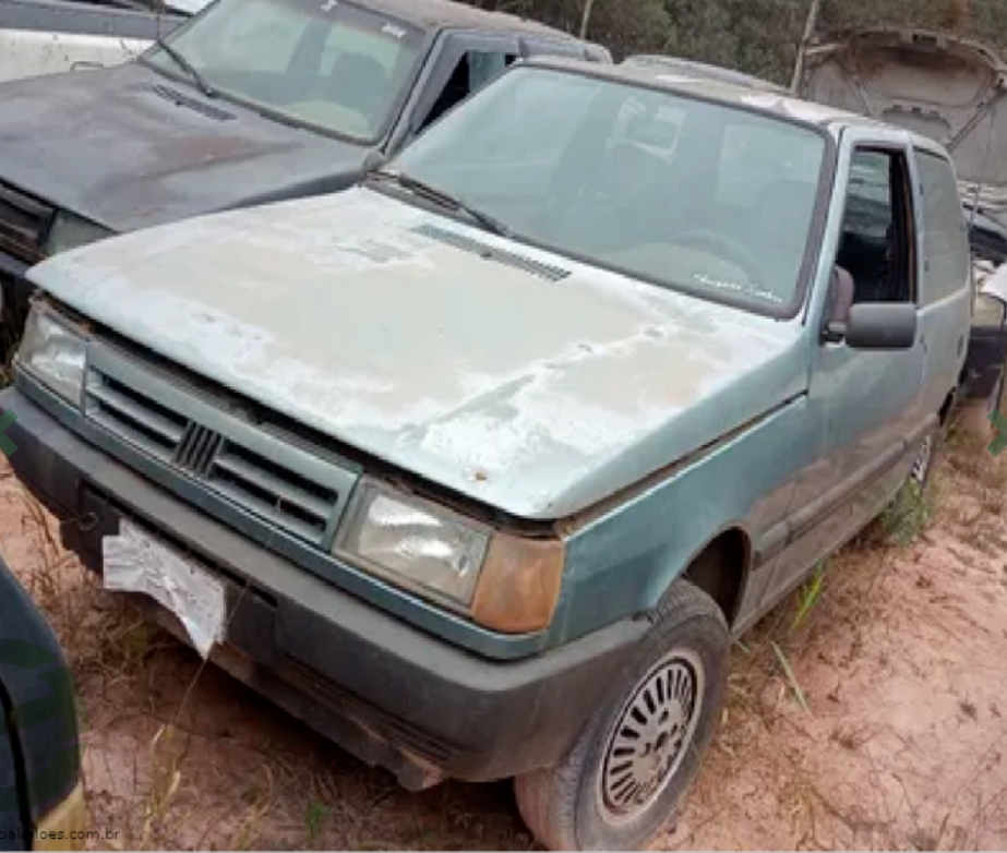
[[[969,236],[955,172],[943,157],[916,152],[923,184],[923,297],[936,302],[969,280]]]

